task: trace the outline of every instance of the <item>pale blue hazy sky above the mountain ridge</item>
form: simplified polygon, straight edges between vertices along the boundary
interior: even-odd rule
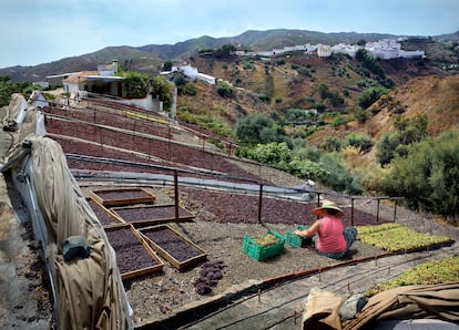
[[[269,29],[438,35],[459,0],[1,0],[0,68]]]

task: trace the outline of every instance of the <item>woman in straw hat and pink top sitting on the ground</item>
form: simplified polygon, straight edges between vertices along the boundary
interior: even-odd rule
[[[295,230],[302,237],[315,237],[315,246],[323,256],[340,259],[349,251],[356,240],[355,227],[344,228],[341,217],[344,212],[330,200],[324,200],[322,207],[312,210],[320,219],[306,230]]]

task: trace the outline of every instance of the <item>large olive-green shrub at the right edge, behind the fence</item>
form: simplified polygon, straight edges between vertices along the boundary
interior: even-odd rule
[[[450,131],[408,146],[406,157],[392,161],[380,189],[404,196],[408,205],[450,216],[459,215],[459,132]]]

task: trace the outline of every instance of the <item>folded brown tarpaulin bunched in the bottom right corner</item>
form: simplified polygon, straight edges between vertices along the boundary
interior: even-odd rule
[[[459,281],[432,286],[406,286],[371,297],[344,330],[371,329],[382,320],[435,318],[459,322]]]

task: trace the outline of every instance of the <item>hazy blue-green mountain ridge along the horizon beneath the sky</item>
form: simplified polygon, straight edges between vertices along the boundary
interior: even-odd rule
[[[437,39],[442,41],[458,40],[458,33],[445,34]],[[139,48],[109,47],[100,51],[79,56],[65,58],[59,61],[43,63],[35,66],[11,66],[0,69],[0,75],[9,75],[16,82],[43,81],[47,75],[64,72],[94,70],[98,64],[118,59],[123,70],[157,73],[161,64],[166,60],[178,60],[195,55],[202,49],[215,49],[225,43],[233,43],[241,49],[269,50],[286,45],[339,42],[355,43],[358,40],[376,41],[384,38],[396,38],[391,34],[378,33],[323,33],[307,30],[267,30],[246,31],[239,35],[226,38],[201,37],[175,44],[150,44]]]

